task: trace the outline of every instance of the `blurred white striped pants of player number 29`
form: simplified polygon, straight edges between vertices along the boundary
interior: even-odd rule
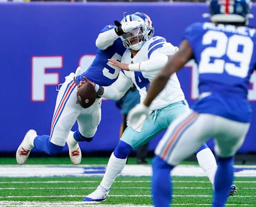
[[[173,166],[191,156],[209,138],[215,138],[215,153],[221,158],[234,156],[244,142],[250,123],[232,121],[190,110],[168,127],[155,154]]]

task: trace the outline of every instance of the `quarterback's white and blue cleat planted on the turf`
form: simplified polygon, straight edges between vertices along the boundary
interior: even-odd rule
[[[107,190],[99,185],[95,191],[89,195],[86,195],[83,201],[84,203],[99,203],[105,201],[108,197],[109,190],[110,189]]]

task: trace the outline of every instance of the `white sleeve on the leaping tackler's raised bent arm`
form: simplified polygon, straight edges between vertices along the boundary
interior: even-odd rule
[[[96,47],[100,50],[106,50],[109,46],[113,45],[118,38],[119,36],[115,32],[115,28],[101,32],[96,39]]]

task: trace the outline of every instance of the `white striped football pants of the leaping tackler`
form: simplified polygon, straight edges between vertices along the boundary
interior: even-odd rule
[[[76,84],[73,82],[75,74],[65,77],[65,82],[57,95],[54,115],[52,118],[50,141],[64,146],[68,133],[77,121],[79,132],[84,137],[93,137],[101,120],[101,98],[87,109],[76,103]]]

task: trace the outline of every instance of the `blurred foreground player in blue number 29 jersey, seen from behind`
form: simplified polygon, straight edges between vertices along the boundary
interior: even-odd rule
[[[186,29],[180,51],[153,80],[144,102],[128,114],[131,123],[147,116],[170,76],[195,59],[200,98],[172,122],[155,150],[152,195],[156,207],[169,207],[172,202],[170,171],[210,137],[215,137],[218,163],[212,206],[224,207],[227,201],[234,178],[234,155],[244,142],[252,117],[247,96],[256,67],[256,29],[245,26],[250,4],[248,0],[210,1],[211,23],[193,23]]]

